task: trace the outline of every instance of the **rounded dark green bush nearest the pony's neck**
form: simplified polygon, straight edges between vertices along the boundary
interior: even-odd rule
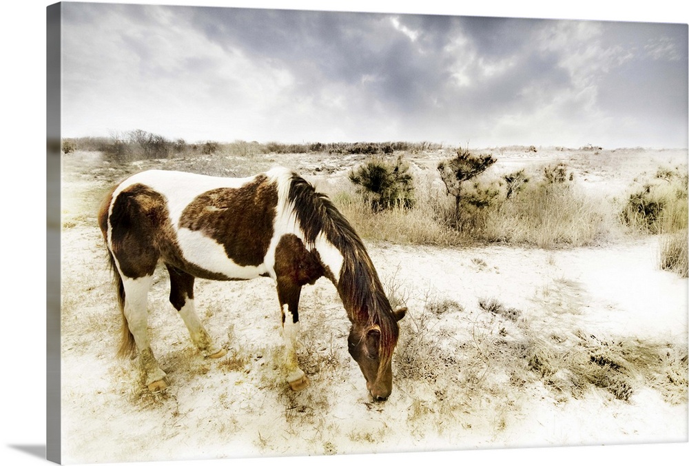
[[[399,156],[395,163],[374,157],[349,173],[349,180],[360,186],[373,210],[413,205],[412,177],[409,165]]]

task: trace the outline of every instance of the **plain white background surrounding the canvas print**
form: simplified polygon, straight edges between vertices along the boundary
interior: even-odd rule
[[[2,365],[0,418],[3,465],[44,463],[45,446],[45,8],[49,1],[14,0],[3,4],[0,100],[0,332]],[[111,3],[123,3],[115,1]],[[141,3],[132,0],[130,3]],[[602,19],[687,23],[686,6],[677,0],[613,2],[532,0],[449,2],[397,1],[148,1],[198,6],[240,6],[463,14],[501,17]],[[455,4],[456,3],[456,4]],[[560,3],[560,2],[557,2]],[[608,3],[615,6],[608,6]],[[286,6],[287,7],[286,7]],[[427,454],[254,458],[162,462],[156,465],[361,465],[433,462],[464,464],[655,464],[689,457],[689,444],[588,446]]]

